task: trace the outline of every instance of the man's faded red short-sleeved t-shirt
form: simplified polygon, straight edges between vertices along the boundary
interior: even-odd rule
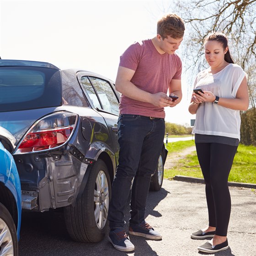
[[[172,79],[181,79],[181,59],[174,54],[160,54],[151,39],[133,43],[120,57],[119,66],[135,71],[131,82],[143,91],[167,93]],[[120,114],[165,118],[164,108],[121,95]]]

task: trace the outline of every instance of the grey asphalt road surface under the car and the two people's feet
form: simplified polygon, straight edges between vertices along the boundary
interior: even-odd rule
[[[256,192],[230,187],[232,212],[230,248],[216,256],[256,256]],[[127,219],[128,221],[127,208]],[[159,241],[131,236],[135,251],[115,250],[105,238],[97,244],[72,241],[61,212],[23,213],[19,256],[198,256],[197,246],[207,240],[192,240],[190,234],[207,224],[204,185],[164,180],[159,192],[149,192],[147,221],[162,235]],[[214,254],[208,254],[214,255]]]

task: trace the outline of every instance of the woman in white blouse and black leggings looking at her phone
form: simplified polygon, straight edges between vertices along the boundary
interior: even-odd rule
[[[209,223],[191,237],[213,237],[197,249],[214,253],[229,248],[228,176],[240,140],[240,110],[247,110],[249,96],[247,75],[234,64],[227,37],[214,32],[206,38],[204,48],[209,68],[195,79],[194,88],[203,92],[192,93],[189,112],[197,113],[192,133],[195,133],[197,157],[205,181]]]

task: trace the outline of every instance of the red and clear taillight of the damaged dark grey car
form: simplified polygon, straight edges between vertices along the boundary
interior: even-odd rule
[[[27,133],[16,154],[53,149],[64,144],[70,137],[77,115],[60,112],[39,120]]]

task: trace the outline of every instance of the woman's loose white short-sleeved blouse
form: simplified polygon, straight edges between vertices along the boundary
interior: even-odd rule
[[[237,64],[228,64],[216,74],[209,69],[198,73],[194,88],[211,91],[220,98],[235,98],[236,92],[247,74]],[[197,108],[196,122],[192,133],[219,135],[240,140],[240,111],[203,102]]]

